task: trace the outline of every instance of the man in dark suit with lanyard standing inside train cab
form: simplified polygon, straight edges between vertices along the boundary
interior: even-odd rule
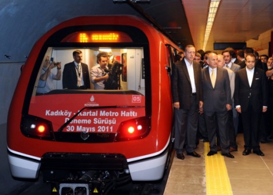
[[[74,62],[64,65],[62,72],[63,89],[90,89],[88,65],[82,63],[83,54],[80,50],[73,52]]]

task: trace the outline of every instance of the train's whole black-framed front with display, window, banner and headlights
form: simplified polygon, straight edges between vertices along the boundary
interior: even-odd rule
[[[56,37],[60,39],[60,34]],[[128,33],[92,37],[94,40],[89,40],[86,34],[74,32],[65,34],[58,44],[49,39],[44,45],[25,99],[25,135],[69,142],[109,142],[128,140],[127,135],[118,132],[131,127],[138,133],[131,138],[147,135],[151,116],[148,41],[134,43],[136,39]],[[39,124],[45,124],[43,128],[50,132],[40,133]],[[32,133],[31,128],[40,134]],[[81,136],[71,138],[73,133]]]

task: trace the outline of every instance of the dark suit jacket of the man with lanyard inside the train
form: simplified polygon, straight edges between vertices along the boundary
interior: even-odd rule
[[[83,80],[85,89],[90,89],[90,77],[88,65],[81,63]],[[77,72],[74,62],[64,65],[62,72],[62,88],[63,89],[78,89],[77,87]]]

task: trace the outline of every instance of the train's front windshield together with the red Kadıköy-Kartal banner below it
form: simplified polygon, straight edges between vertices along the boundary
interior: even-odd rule
[[[80,71],[74,51],[82,52]],[[107,58],[99,59],[100,54]],[[107,60],[103,70],[100,60]],[[70,74],[66,75],[70,81],[79,74],[88,76],[80,79],[80,85],[88,87],[80,88],[76,83],[78,88],[69,88],[64,82],[70,81],[64,81],[64,74]],[[94,78],[104,75],[108,75],[101,82],[104,88],[96,89]],[[29,115],[49,121],[55,132],[115,134],[122,122],[145,118],[146,76],[142,47],[48,47],[34,79]]]

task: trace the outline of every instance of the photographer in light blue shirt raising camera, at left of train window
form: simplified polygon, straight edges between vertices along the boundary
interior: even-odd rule
[[[51,69],[55,67],[57,67],[57,73],[53,74]],[[53,80],[61,80],[61,63],[51,62],[49,64],[49,56],[47,56],[41,70],[36,94],[43,95],[54,90]]]

